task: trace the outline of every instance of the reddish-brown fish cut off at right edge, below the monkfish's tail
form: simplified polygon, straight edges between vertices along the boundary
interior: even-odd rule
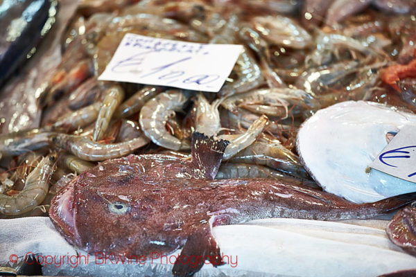
[[[394,244],[416,256],[416,202],[397,212],[385,231]]]

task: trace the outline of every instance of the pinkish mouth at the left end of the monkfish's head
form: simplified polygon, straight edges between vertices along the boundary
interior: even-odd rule
[[[60,190],[51,201],[49,217],[55,229],[71,244],[76,242],[76,228],[73,217],[73,181]]]

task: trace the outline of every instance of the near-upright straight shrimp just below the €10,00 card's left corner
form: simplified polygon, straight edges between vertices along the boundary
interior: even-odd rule
[[[114,85],[107,89],[103,104],[96,120],[93,135],[94,141],[99,141],[103,138],[105,131],[107,131],[107,128],[110,125],[110,120],[114,111],[116,111],[116,108],[119,107],[123,98],[124,91],[119,85]]]

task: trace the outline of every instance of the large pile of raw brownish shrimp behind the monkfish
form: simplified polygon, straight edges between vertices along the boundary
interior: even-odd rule
[[[394,2],[81,1],[53,78],[27,92],[42,123],[0,137],[1,217],[46,213],[56,190],[99,161],[187,159],[193,132],[230,142],[218,179],[317,186],[294,148],[306,118],[345,100],[416,111],[416,4]],[[126,33],[243,51],[218,93],[98,81]]]

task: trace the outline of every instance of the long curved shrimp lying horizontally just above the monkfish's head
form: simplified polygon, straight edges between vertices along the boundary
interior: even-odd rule
[[[111,144],[96,143],[83,136],[69,134],[51,134],[49,137],[55,146],[67,150],[85,161],[104,161],[123,157],[149,143],[146,136]]]

